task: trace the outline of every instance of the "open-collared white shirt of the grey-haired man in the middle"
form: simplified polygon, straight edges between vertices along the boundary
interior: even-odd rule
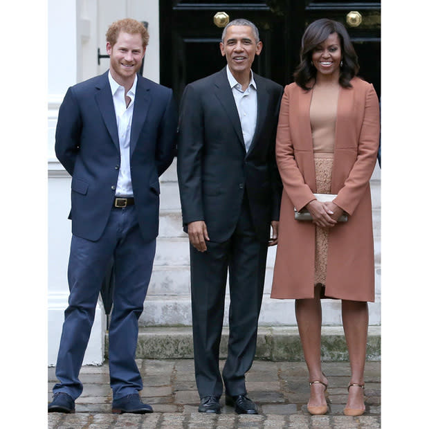
[[[257,118],[257,92],[256,83],[253,79],[253,71],[250,70],[250,83],[246,91],[241,89],[241,84],[235,80],[235,77],[226,66],[226,75],[230,83],[232,95],[234,95],[235,105],[237,106],[238,116],[241,123],[241,132],[243,133],[246,152],[250,147],[255,134]]]

